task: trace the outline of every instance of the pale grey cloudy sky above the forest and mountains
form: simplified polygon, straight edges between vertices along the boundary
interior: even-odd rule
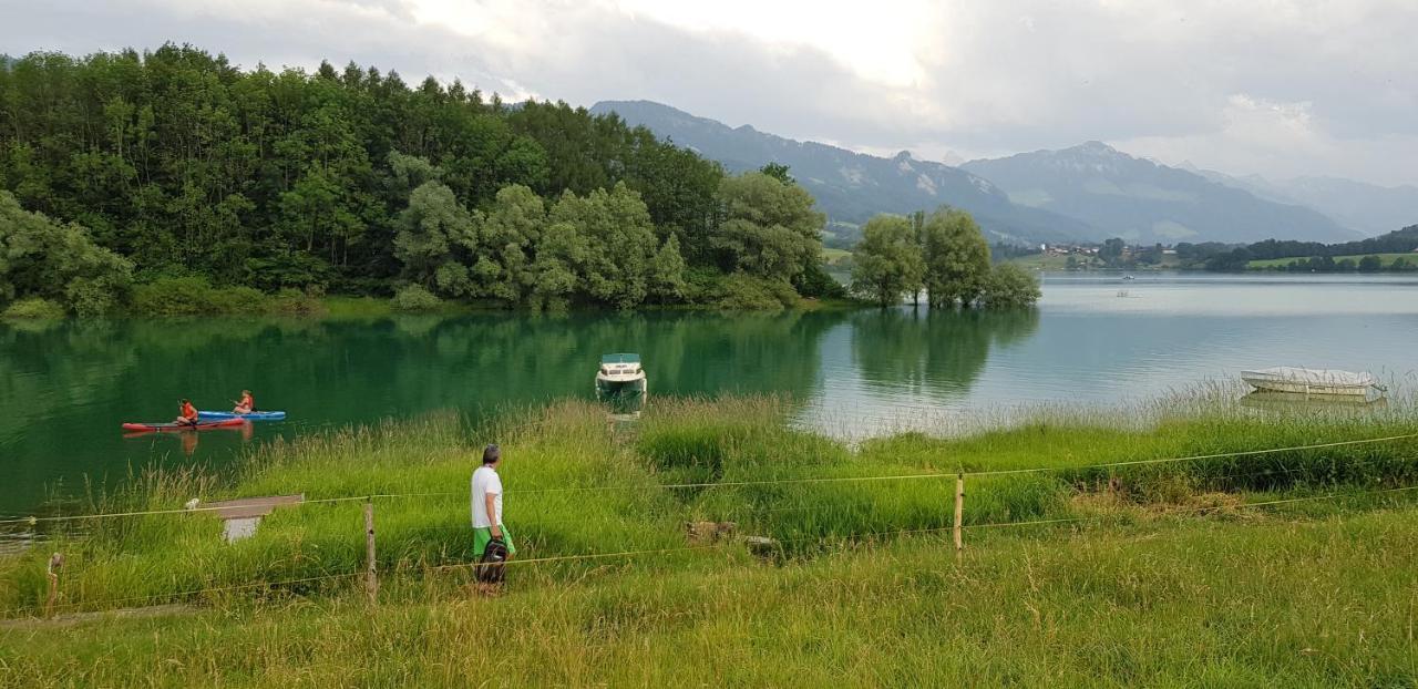
[[[0,52],[193,43],[509,98],[652,99],[891,155],[1100,139],[1418,184],[1418,0],[0,0]]]

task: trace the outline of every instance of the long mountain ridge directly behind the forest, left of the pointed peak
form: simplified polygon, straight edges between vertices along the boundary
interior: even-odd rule
[[[628,123],[644,125],[732,172],[754,170],[770,162],[787,164],[830,221],[838,224],[865,223],[878,213],[906,214],[950,204],[970,211],[995,240],[1034,244],[1103,238],[1085,221],[1015,204],[986,179],[917,160],[906,152],[893,157],[868,156],[784,139],[749,125],[729,128],[649,101],[605,101],[591,106],[591,112],[615,112]]]

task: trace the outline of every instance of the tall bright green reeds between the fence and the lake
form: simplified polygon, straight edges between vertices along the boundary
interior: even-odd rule
[[[200,513],[61,526],[43,551],[0,559],[0,608],[4,617],[41,608],[50,550],[67,557],[64,611],[337,598],[357,588],[364,567],[360,496],[376,496],[386,577],[465,581],[468,476],[482,444],[493,441],[506,456],[508,520],[520,557],[652,550],[664,551],[647,559],[652,567],[688,573],[747,559],[736,542],[698,550],[686,533],[695,522],[732,522],[735,537],[773,539],[780,564],[942,532],[951,525],[959,472],[1029,469],[970,476],[968,527],[1052,520],[1136,527],[1174,519],[1168,515],[1235,515],[1245,502],[1418,485],[1418,438],[1234,454],[1418,434],[1409,398],[1378,411],[1293,414],[1225,400],[1224,390],[1208,388],[1129,413],[1029,408],[1004,428],[966,437],[905,432],[861,442],[794,427],[795,404],[777,397],[657,398],[628,425],[608,422],[598,405],[556,401],[502,410],[476,425],[444,413],[339,430],[264,447],[223,476],[145,472],[92,505],[95,512],[147,512],[176,510],[190,498],[303,493],[311,500],[277,509],[254,537],[224,544],[220,522]],[[1225,456],[1105,466],[1197,455]],[[1407,495],[1316,500],[1288,513],[1317,519],[1340,508],[1391,508]],[[343,498],[354,499],[319,502]],[[550,561],[525,567],[536,574],[523,581],[556,588],[603,580],[628,561]]]

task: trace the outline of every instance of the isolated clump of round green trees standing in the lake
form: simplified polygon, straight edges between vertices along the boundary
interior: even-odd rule
[[[932,308],[1029,306],[1039,284],[1014,264],[990,262],[990,244],[968,213],[881,214],[862,225],[854,250],[852,291],[881,306],[919,301]]]

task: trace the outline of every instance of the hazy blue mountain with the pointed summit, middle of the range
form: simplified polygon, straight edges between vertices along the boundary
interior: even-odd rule
[[[1358,235],[1313,208],[1133,157],[1100,142],[973,160],[961,169],[994,181],[1017,204],[1069,215],[1137,244],[1347,241]]]

